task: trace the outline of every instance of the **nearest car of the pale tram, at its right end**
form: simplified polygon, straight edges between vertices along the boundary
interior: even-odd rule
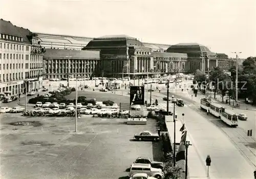
[[[232,110],[227,110],[225,108],[222,108],[220,116],[221,116],[221,120],[226,124],[228,124],[229,126],[231,127],[238,126],[238,116]]]

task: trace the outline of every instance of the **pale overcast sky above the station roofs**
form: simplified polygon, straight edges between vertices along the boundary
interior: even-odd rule
[[[32,32],[126,34],[143,42],[198,42],[256,56],[256,0],[0,0],[0,17]]]

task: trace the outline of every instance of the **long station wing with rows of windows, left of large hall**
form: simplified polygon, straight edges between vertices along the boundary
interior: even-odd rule
[[[100,70],[99,51],[46,49],[44,78],[92,77]]]

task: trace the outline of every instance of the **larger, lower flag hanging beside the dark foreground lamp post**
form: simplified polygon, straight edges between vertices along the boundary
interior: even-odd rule
[[[187,138],[187,131],[184,130],[183,135],[181,136],[180,146],[176,155],[176,164],[182,170],[185,170],[185,142]]]

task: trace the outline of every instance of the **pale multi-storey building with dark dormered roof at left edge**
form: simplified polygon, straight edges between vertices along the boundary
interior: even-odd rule
[[[39,88],[42,73],[36,76],[30,74],[33,73],[30,71],[31,58],[34,58],[31,47],[35,37],[28,29],[16,27],[10,21],[1,19],[0,26],[0,93],[12,96],[24,93],[25,88],[27,91]],[[38,44],[35,46],[40,56],[38,59],[41,59],[39,66],[42,51]]]

